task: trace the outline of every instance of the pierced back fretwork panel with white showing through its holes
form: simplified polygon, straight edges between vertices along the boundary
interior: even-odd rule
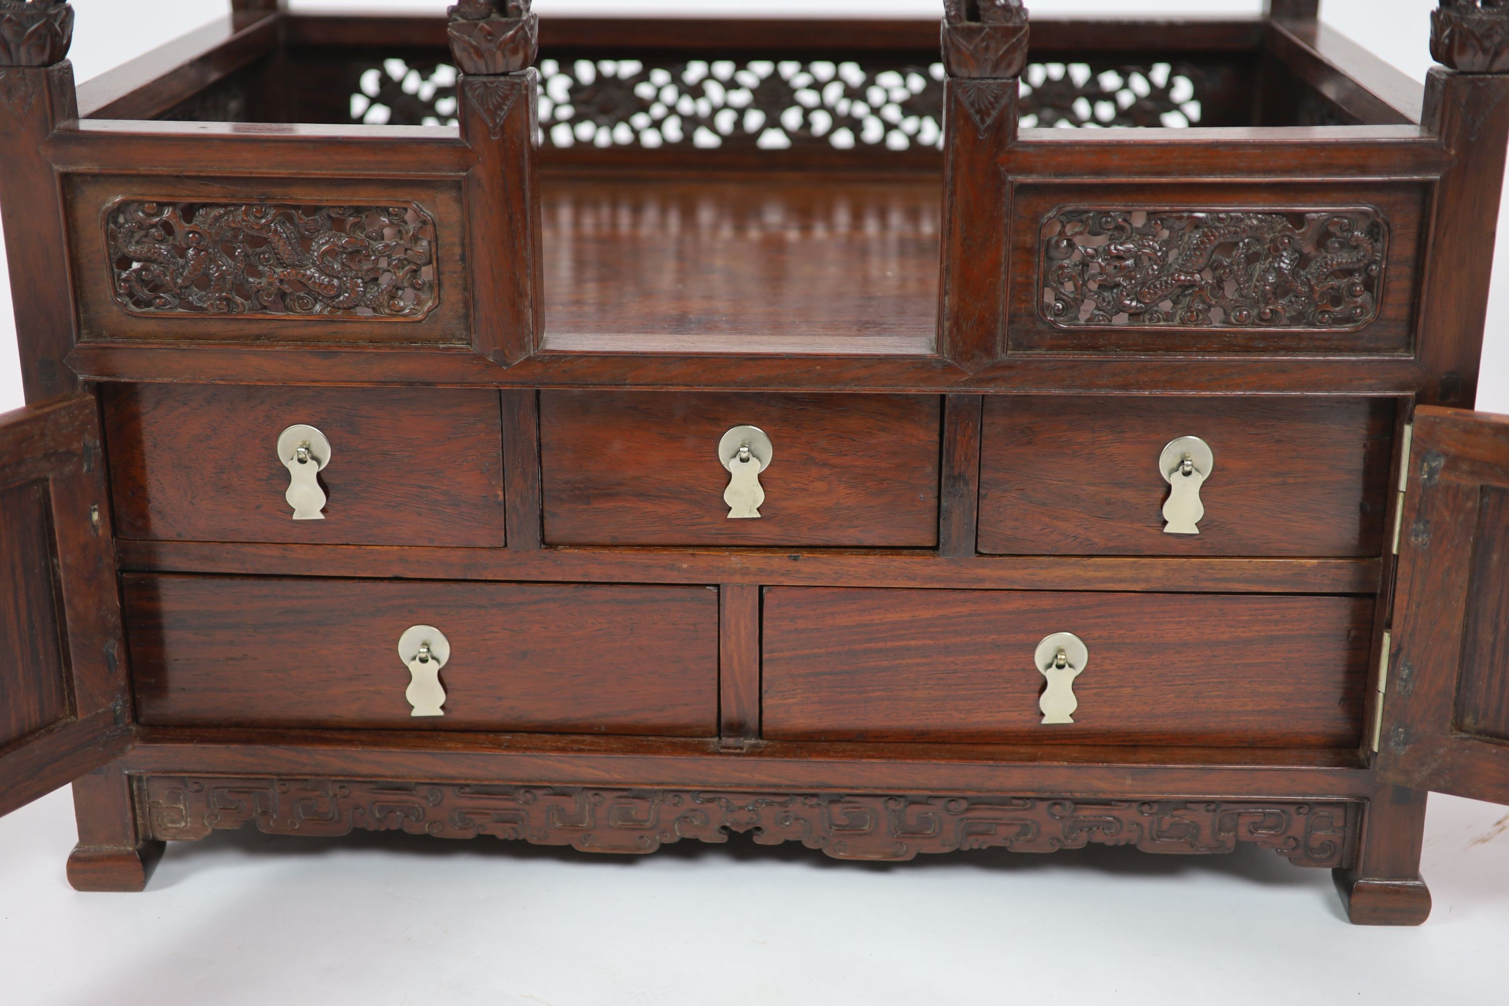
[[[456,68],[401,59],[355,69],[353,122],[456,122]],[[943,63],[540,60],[540,140],[572,146],[936,149]],[[1032,63],[1023,127],[1188,127],[1200,72],[1172,63]]]

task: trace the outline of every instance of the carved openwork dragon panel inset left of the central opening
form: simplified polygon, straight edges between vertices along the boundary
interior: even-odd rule
[[[435,220],[416,204],[121,199],[104,226],[131,314],[416,321],[439,303]]]

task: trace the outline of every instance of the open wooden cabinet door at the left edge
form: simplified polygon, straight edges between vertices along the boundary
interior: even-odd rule
[[[92,395],[0,415],[0,814],[131,747]]]

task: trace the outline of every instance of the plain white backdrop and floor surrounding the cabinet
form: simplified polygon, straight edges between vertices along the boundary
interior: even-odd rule
[[[74,6],[80,80],[152,48],[160,26],[187,32],[225,9],[223,0]],[[545,14],[708,6],[536,0]],[[720,12],[933,17],[939,6],[724,0]],[[1432,6],[1325,0],[1325,17],[1423,78]],[[1032,8],[1038,15],[1251,14],[1260,3],[1035,0]],[[21,401],[5,276],[0,268],[0,410]],[[1480,407],[1503,412],[1506,281],[1500,267],[1479,397]],[[62,792],[0,819],[0,986],[18,1006],[1491,1003],[1504,995],[1506,831],[1503,808],[1432,798],[1423,870],[1435,914],[1424,928],[1402,931],[1348,926],[1325,872],[1255,849],[1209,860],[1088,849],[859,866],[738,839],[617,860],[489,839],[314,842],[247,833],[171,848],[145,894],[89,896],[63,879],[74,828]]]

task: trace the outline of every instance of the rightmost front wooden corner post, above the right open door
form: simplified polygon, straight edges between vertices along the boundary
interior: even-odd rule
[[[1443,0],[1421,125],[1452,151],[1435,192],[1420,315],[1421,404],[1471,409],[1488,320],[1504,151],[1509,146],[1509,8]]]

